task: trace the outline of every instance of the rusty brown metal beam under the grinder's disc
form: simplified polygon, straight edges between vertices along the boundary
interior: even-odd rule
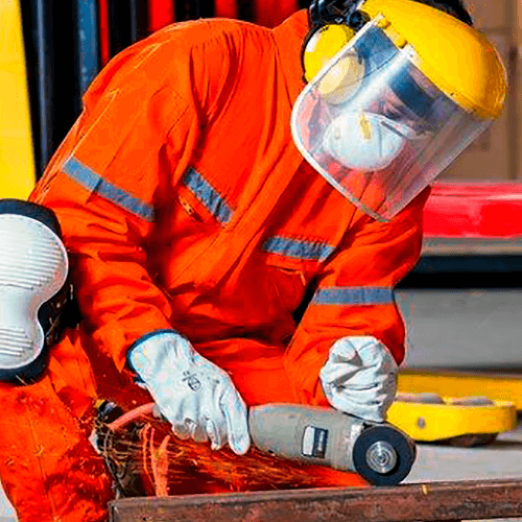
[[[122,499],[111,522],[413,522],[522,517],[522,480]]]

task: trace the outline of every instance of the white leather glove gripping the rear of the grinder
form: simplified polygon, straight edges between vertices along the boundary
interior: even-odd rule
[[[180,438],[210,439],[212,449],[228,442],[244,455],[250,446],[247,410],[229,375],[174,332],[138,343],[129,362],[143,379],[163,417]]]

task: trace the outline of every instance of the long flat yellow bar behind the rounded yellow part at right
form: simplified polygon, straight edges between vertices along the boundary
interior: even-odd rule
[[[492,400],[507,400],[522,410],[522,375],[457,371],[401,370],[400,393],[436,393],[445,397],[483,395]]]

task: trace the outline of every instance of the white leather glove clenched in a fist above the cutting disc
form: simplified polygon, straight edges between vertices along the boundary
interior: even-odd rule
[[[319,378],[335,409],[383,422],[397,390],[397,364],[375,337],[343,337],[331,347]]]

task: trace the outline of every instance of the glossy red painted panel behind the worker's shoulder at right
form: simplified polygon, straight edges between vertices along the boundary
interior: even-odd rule
[[[424,210],[424,235],[522,236],[522,183],[437,183]]]

